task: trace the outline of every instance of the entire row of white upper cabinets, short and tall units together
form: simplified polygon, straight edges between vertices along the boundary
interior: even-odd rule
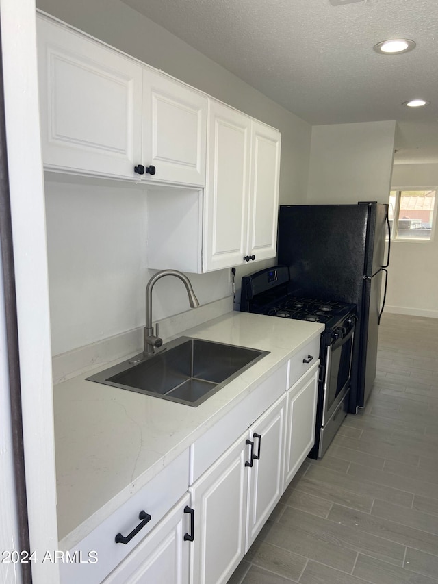
[[[275,257],[279,131],[48,16],[37,25],[45,168],[149,184],[151,269]]]

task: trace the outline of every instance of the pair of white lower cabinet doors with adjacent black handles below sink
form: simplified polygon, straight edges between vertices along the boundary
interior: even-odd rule
[[[190,487],[191,584],[226,583],[283,493],[286,396]]]

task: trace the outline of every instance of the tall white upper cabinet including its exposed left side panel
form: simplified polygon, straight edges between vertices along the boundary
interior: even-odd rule
[[[203,209],[194,190],[151,191],[150,268],[202,273],[276,255],[280,132],[214,99],[207,126]]]

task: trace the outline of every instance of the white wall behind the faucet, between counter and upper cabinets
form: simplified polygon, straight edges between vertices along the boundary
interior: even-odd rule
[[[164,198],[167,192],[163,188]],[[46,173],[45,198],[52,355],[106,339],[118,346],[116,339],[144,327],[146,283],[156,271],[147,257],[146,188]],[[231,294],[230,270],[189,277],[201,305]],[[157,282],[153,322],[187,310],[181,282]],[[138,341],[127,345],[137,347]]]

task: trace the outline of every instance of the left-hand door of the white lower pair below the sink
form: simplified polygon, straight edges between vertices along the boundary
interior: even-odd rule
[[[189,488],[194,509],[192,584],[226,583],[244,557],[247,437],[240,437]]]

